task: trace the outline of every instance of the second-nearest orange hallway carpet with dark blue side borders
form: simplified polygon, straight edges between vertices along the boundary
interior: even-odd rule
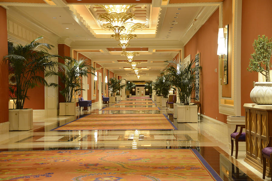
[[[51,131],[128,129],[165,130],[177,128],[164,114],[89,114]]]

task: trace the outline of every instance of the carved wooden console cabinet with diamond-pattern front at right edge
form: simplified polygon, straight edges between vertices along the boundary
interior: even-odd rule
[[[263,172],[262,149],[272,136],[272,105],[244,104],[246,130],[246,158],[244,161]],[[267,164],[266,176],[271,176]]]

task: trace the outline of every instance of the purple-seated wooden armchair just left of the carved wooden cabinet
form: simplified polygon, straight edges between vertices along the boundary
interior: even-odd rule
[[[237,132],[238,127],[240,127],[239,132]],[[237,155],[238,155],[238,141],[245,141],[245,132],[242,132],[243,128],[245,129],[245,125],[236,125],[235,131],[231,134],[231,144],[232,144],[231,156],[233,155],[233,141],[235,141],[235,159],[237,159]]]

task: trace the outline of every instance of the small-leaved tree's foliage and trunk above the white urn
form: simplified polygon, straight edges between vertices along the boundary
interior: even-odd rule
[[[262,37],[259,35],[258,39],[255,39],[252,45],[255,52],[251,54],[252,58],[249,62],[248,71],[260,72],[265,76],[265,80],[270,82],[270,67],[272,67],[270,63],[272,51],[271,38],[268,39],[265,35],[262,35]]]

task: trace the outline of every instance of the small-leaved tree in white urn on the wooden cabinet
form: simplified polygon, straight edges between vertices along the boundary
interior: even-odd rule
[[[254,40],[253,47],[255,52],[251,54],[248,71],[260,72],[265,76],[266,82],[255,82],[251,90],[250,99],[256,104],[272,104],[272,82],[270,81],[270,63],[272,42],[265,35],[258,36]]]

